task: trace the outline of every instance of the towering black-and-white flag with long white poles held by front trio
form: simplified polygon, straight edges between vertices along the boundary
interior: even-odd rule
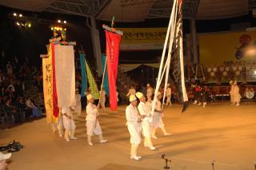
[[[167,45],[169,49],[166,57]],[[170,14],[170,22],[169,22],[169,26],[166,33],[166,41],[162,51],[162,58],[160,62],[159,72],[158,72],[156,89],[154,93],[158,93],[158,90],[162,83],[162,78],[166,74],[165,92],[164,92],[164,96],[165,96],[166,85],[167,85],[169,69],[170,69],[170,58],[174,56],[178,57],[177,63],[176,63],[178,65],[178,70],[177,70],[178,71],[178,92],[182,97],[182,103],[183,103],[182,112],[184,112],[188,106],[188,98],[187,98],[186,87],[185,87],[183,48],[182,48],[182,0],[174,0],[172,12]],[[165,65],[164,65],[164,62],[165,62]],[[163,65],[164,65],[164,68],[163,68]],[[151,113],[154,113],[155,102],[156,102],[156,95],[154,96]]]

